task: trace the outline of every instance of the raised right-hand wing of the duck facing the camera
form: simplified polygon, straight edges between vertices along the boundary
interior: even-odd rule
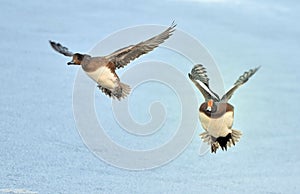
[[[254,68],[254,69],[250,69],[249,71],[246,71],[243,75],[241,75],[239,77],[239,79],[234,83],[234,85],[230,88],[230,90],[228,90],[226,92],[226,94],[224,94],[224,96],[222,96],[221,101],[226,101],[227,102],[232,97],[235,90],[237,90],[241,85],[246,83],[249,80],[249,78],[257,72],[257,70],[259,68],[260,68],[260,66]]]

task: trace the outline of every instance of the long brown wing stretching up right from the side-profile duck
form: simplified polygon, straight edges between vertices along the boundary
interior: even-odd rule
[[[166,39],[168,39],[174,32],[176,24],[174,22],[161,34],[154,36],[146,41],[140,42],[136,45],[130,45],[128,47],[119,49],[112,54],[106,56],[109,61],[116,65],[116,68],[121,68],[126,66],[130,61],[138,58],[139,56],[152,51],[154,48],[158,47]]]

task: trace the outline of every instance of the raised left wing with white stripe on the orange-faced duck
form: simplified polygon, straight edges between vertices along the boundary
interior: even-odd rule
[[[189,73],[188,75],[190,80],[192,80],[192,82],[202,93],[205,101],[208,101],[210,99],[213,99],[214,101],[220,101],[219,96],[209,88],[209,78],[203,65],[195,65],[191,73]]]

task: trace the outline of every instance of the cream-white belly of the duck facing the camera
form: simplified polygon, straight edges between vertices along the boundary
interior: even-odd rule
[[[231,133],[233,124],[233,112],[229,111],[218,118],[211,118],[200,112],[199,119],[202,127],[214,137],[225,137]]]

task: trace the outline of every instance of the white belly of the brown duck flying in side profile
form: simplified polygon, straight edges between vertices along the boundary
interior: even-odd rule
[[[118,77],[115,76],[108,67],[99,67],[94,72],[86,73],[90,78],[104,88],[112,90],[118,86]]]

